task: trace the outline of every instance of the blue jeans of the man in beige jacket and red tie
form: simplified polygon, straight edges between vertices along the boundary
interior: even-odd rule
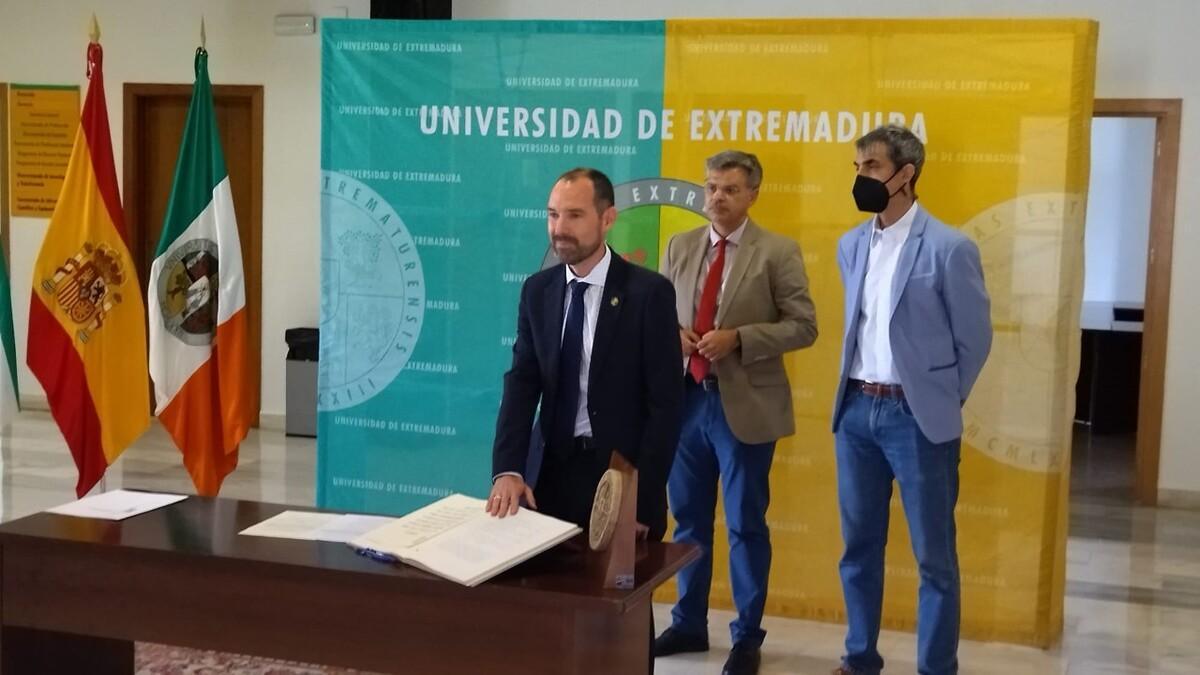
[[[762,613],[770,572],[770,461],[775,443],[743,443],[733,436],[719,392],[686,384],[684,420],[674,464],[667,479],[676,542],[700,546],[701,557],[679,571],[679,601],[672,627],[708,635],[708,592],[713,584],[713,520],[716,482],[725,497],[730,536],[730,577],[738,616],[730,623],[733,644],[761,645]]]

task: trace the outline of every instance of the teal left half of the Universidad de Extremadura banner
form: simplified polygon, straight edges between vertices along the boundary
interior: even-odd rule
[[[486,495],[550,187],[576,166],[659,174],[638,121],[662,107],[664,29],[322,23],[319,506]],[[614,234],[656,255],[655,228]]]

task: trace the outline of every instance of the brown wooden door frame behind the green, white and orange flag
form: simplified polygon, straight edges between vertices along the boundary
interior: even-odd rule
[[[191,84],[157,84],[157,83],[125,83],[125,124],[122,133],[124,144],[124,187],[125,187],[125,221],[128,227],[130,243],[142,246],[142,220],[138,213],[140,193],[138,177],[140,175],[140,157],[137,153],[138,130],[142,129],[142,103],[146,98],[160,98],[163,96],[182,96],[190,98],[192,95]],[[242,98],[250,102],[251,110],[251,193],[245,197],[250,199],[250,240],[241,243],[242,261],[253,261],[259,270],[253,279],[246,276],[246,301],[254,303],[258,307],[257,321],[248,328],[250,342],[250,376],[256,383],[254,389],[254,414],[252,426],[258,426],[259,411],[262,410],[263,390],[263,86],[259,84],[214,84],[214,98]],[[134,255],[144,253],[138,251]]]

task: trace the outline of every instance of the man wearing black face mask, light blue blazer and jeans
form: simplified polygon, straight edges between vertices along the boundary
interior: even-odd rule
[[[979,249],[917,204],[920,139],[888,125],[856,145],[854,202],[877,215],[838,243],[846,328],[833,430],[847,632],[834,673],[883,668],[877,643],[895,480],[920,574],[917,670],[953,675],[961,406],[991,347],[990,303]]]

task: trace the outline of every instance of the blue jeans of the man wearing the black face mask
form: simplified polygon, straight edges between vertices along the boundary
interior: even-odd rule
[[[846,656],[854,670],[883,668],[877,644],[883,607],[883,549],[892,480],[900,484],[920,589],[917,671],[958,673],[959,558],[954,504],[959,498],[959,441],[932,443],[902,399],[850,389],[835,435],[846,597]]]

